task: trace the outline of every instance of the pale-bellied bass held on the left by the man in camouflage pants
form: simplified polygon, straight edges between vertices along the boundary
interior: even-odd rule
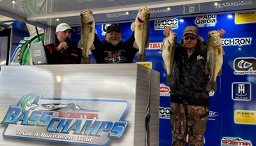
[[[170,34],[164,39],[164,44],[162,46],[162,58],[164,60],[164,68],[166,69],[166,83],[174,83],[173,78],[173,66],[174,66],[174,52],[176,46],[177,34],[173,33],[172,30],[169,31]]]

